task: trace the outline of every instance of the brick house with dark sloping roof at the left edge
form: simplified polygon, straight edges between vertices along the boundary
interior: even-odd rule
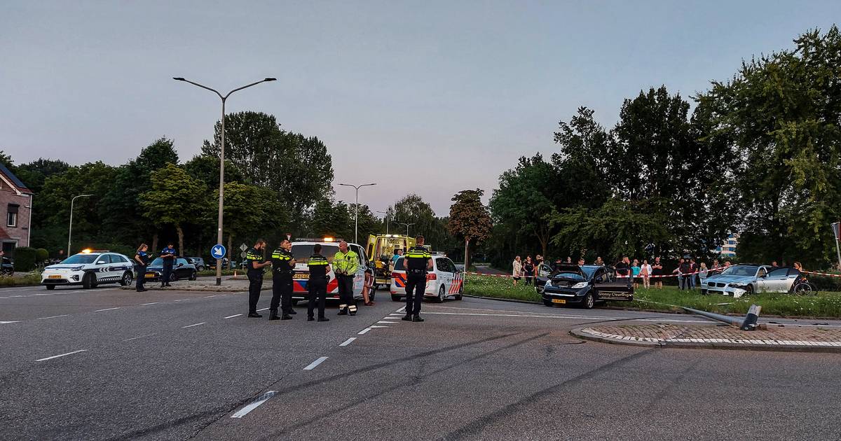
[[[29,226],[32,223],[33,193],[0,164],[0,244],[7,257],[14,249],[29,246]]]

